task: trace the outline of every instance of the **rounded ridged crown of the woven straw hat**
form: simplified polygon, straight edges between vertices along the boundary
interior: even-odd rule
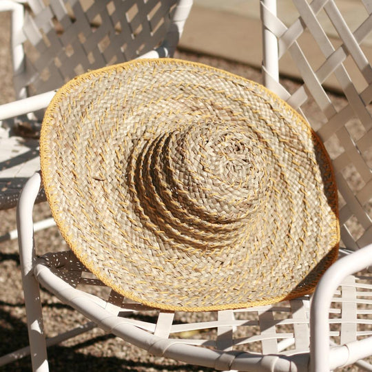
[[[214,249],[244,240],[271,189],[255,136],[247,125],[196,122],[136,143],[130,189],[138,212],[172,236],[171,246]]]

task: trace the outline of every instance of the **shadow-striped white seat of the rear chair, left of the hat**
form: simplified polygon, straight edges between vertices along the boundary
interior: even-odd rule
[[[15,207],[26,180],[40,169],[39,140],[20,136],[6,124],[0,125],[0,209]],[[37,202],[43,200],[41,191]]]

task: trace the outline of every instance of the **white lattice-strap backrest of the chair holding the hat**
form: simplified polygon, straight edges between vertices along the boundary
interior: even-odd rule
[[[288,1],[276,3],[260,1],[264,81],[305,117],[317,107],[310,123],[333,160],[342,245],[355,250],[372,242],[372,2],[294,0],[290,10]],[[277,61],[287,72],[297,69],[304,82],[298,89],[289,92],[279,83]]]

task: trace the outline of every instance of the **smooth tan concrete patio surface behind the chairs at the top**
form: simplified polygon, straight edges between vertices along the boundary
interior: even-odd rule
[[[299,17],[298,10],[290,0],[279,0],[278,15],[289,27]],[[360,0],[336,1],[342,16],[352,31],[360,24],[360,19],[367,17],[366,8]],[[340,45],[338,32],[322,10],[318,19],[333,45]],[[180,40],[180,47],[194,52],[210,54],[231,61],[246,63],[260,68],[262,61],[262,30],[260,24],[260,2],[258,0],[194,0],[194,6],[185,25]],[[313,66],[320,66],[324,56],[319,48],[313,48],[313,39],[309,32],[304,32],[302,41],[311,48],[307,50],[307,58]],[[367,58],[372,59],[372,34],[362,42],[362,50]],[[351,65],[351,61],[347,61]],[[296,65],[286,54],[280,60],[280,73],[293,79],[300,75]],[[360,79],[355,76],[355,79]],[[360,82],[362,83],[362,81]],[[358,84],[358,83],[357,83]],[[327,80],[327,87],[338,90],[335,77]]]

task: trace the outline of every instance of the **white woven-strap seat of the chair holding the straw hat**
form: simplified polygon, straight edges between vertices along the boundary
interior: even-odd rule
[[[308,371],[309,296],[234,311],[169,312],[110,292],[71,251],[42,256],[34,273],[62,302],[103,330],[154,355],[188,363],[193,360],[217,370],[262,371],[275,366],[272,371]],[[372,312],[367,309],[372,302],[372,285],[366,284],[370,278],[370,273],[349,276],[335,293],[329,313],[334,345],[372,335],[372,321],[366,318]],[[99,287],[87,291],[87,285]],[[338,349],[331,349],[332,368],[345,362]]]

